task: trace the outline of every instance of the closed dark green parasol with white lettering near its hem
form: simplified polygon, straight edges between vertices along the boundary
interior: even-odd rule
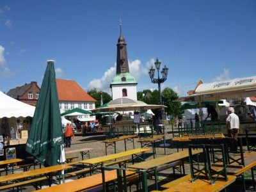
[[[44,166],[52,166],[65,161],[65,153],[62,147],[63,131],[54,62],[47,61],[26,151]]]

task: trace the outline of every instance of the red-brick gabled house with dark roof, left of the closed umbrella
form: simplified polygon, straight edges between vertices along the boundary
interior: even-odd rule
[[[31,83],[26,83],[22,86],[17,86],[16,88],[13,88],[8,93],[6,93],[6,95],[31,106],[36,106],[39,93],[39,86],[35,81],[31,81]]]

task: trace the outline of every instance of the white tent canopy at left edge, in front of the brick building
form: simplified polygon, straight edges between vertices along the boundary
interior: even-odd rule
[[[0,91],[0,118],[33,116],[35,107],[13,99]]]

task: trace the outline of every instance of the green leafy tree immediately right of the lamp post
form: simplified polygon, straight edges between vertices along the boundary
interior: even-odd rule
[[[174,92],[171,88],[164,88],[163,92],[161,93],[162,100],[164,102],[165,112],[168,115],[179,116],[181,118],[182,116],[182,110],[180,109],[180,102],[173,102],[173,100],[178,99],[179,96],[176,92]]]

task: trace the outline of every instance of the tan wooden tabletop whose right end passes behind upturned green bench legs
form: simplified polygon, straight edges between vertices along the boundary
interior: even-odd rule
[[[202,149],[193,150],[193,154],[200,154],[202,152],[203,152]],[[172,163],[173,161],[178,161],[180,159],[184,159],[186,157],[189,157],[188,150],[182,150],[181,152],[177,152],[175,154],[170,154],[168,156],[157,157],[156,159],[150,159],[148,161],[144,161],[141,163],[132,164],[132,165],[129,165],[128,168],[148,170],[148,169],[155,168],[155,167],[163,165],[163,164]]]

